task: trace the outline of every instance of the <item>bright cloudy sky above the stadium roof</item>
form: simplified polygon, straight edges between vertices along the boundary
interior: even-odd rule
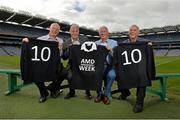
[[[0,5],[110,32],[180,24],[180,0],[0,0]]]

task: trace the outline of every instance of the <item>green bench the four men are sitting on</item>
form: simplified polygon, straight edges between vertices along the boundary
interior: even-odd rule
[[[16,91],[19,91],[22,87],[25,85],[23,83],[17,84],[18,78],[21,78],[21,72],[19,69],[0,69],[0,73],[7,74],[8,78],[8,91],[6,92],[6,95],[10,95]],[[152,87],[147,88],[147,92],[156,94],[160,96],[161,100],[166,101],[167,98],[167,79],[172,77],[179,77],[180,73],[159,73],[156,76],[156,80],[159,82],[158,89],[154,89]],[[61,88],[67,88],[68,85],[63,85]],[[114,90],[111,92],[111,94],[115,94],[119,92],[118,90]]]

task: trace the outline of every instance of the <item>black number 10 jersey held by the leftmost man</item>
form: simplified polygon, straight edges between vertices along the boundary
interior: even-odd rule
[[[21,75],[24,83],[56,80],[60,56],[58,42],[30,39],[21,48]]]

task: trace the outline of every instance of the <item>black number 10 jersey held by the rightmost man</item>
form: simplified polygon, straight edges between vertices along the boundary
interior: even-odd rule
[[[155,78],[152,46],[145,42],[121,43],[114,50],[114,65],[119,88],[150,86]]]

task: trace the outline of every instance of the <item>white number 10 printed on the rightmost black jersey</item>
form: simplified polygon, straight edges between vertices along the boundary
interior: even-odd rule
[[[135,60],[135,59],[134,59],[134,53],[135,53],[135,52],[137,52],[138,55],[139,55],[139,59],[138,59],[138,60]],[[123,63],[123,65],[130,65],[130,64],[132,64],[131,62],[129,62],[128,55],[127,55],[127,51],[124,51],[121,55],[125,55],[125,60],[126,60],[126,62]],[[134,50],[132,50],[132,52],[131,52],[131,59],[132,59],[132,62],[133,62],[133,63],[139,63],[139,62],[141,61],[141,59],[142,59],[141,51],[140,51],[139,49],[134,49]]]

